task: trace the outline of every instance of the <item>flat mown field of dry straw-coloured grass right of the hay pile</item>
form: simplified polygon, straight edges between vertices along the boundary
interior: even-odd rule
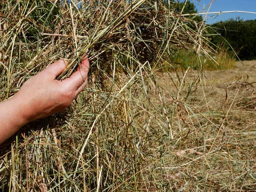
[[[243,64],[204,71],[201,79],[194,70],[158,76],[167,111],[179,90],[172,79],[183,81],[183,98],[193,92],[170,119],[174,140],[161,145],[163,157],[154,167],[172,183],[170,191],[256,190],[256,61]]]

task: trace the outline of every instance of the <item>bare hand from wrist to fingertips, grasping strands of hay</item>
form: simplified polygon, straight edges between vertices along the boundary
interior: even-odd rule
[[[81,66],[69,78],[58,81],[56,77],[65,70],[66,65],[64,59],[49,65],[28,79],[11,98],[16,100],[25,124],[64,111],[87,85],[88,58],[81,62]]]

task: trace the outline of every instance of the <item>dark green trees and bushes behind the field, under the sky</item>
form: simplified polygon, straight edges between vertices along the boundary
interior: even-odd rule
[[[176,6],[176,11],[180,12],[184,6],[182,14],[198,13],[194,3],[190,0],[180,2]],[[201,16],[188,16],[195,21],[203,22]],[[227,49],[229,52],[238,55],[241,60],[256,59],[256,20],[243,20],[240,17],[236,19],[220,21],[212,25],[207,25],[207,30],[210,34],[210,44],[212,47]]]

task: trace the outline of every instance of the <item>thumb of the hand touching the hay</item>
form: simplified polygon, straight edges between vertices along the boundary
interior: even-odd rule
[[[55,79],[59,74],[61,74],[67,66],[67,61],[64,59],[60,59],[59,61],[55,62],[54,64],[50,64],[45,70],[44,73],[52,76]]]

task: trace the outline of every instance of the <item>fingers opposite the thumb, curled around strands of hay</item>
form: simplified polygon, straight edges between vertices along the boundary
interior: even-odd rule
[[[89,61],[88,58],[86,58],[81,62],[76,72],[62,82],[72,86],[76,91],[76,95],[78,95],[87,85],[88,72]]]

